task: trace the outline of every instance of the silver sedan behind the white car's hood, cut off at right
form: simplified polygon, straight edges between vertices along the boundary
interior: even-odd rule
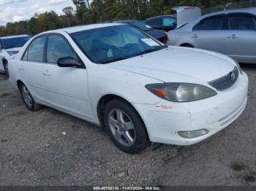
[[[169,45],[195,47],[256,63],[256,8],[214,12],[168,33]]]

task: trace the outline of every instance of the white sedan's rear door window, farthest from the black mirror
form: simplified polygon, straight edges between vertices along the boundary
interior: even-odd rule
[[[26,61],[42,62],[45,47],[45,36],[40,36],[29,45],[23,59]]]

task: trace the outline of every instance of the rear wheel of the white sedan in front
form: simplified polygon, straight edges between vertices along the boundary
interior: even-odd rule
[[[39,109],[42,108],[41,105],[37,104],[34,101],[34,98],[32,97],[31,93],[29,92],[28,88],[26,87],[26,85],[24,85],[23,83],[20,83],[19,85],[19,89],[20,89],[20,95],[23,99],[24,104],[26,105],[26,107],[32,111],[35,112]]]

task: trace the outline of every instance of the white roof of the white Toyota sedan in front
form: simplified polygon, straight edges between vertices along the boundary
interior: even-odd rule
[[[79,31],[86,31],[86,30],[90,30],[90,29],[94,29],[94,28],[104,28],[104,27],[108,27],[108,26],[120,26],[120,25],[125,25],[123,23],[99,23],[99,24],[91,24],[91,25],[86,25],[86,26],[73,26],[73,27],[69,27],[69,28],[60,28],[57,30],[53,30],[53,31],[47,31],[45,33],[51,33],[51,32],[67,32],[68,34],[72,34],[75,32],[79,32]]]

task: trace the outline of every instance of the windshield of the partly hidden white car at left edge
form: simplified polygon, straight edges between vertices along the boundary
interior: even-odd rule
[[[23,47],[23,45],[31,38],[31,36],[15,37],[10,39],[1,39],[1,45],[4,49],[14,47]]]

